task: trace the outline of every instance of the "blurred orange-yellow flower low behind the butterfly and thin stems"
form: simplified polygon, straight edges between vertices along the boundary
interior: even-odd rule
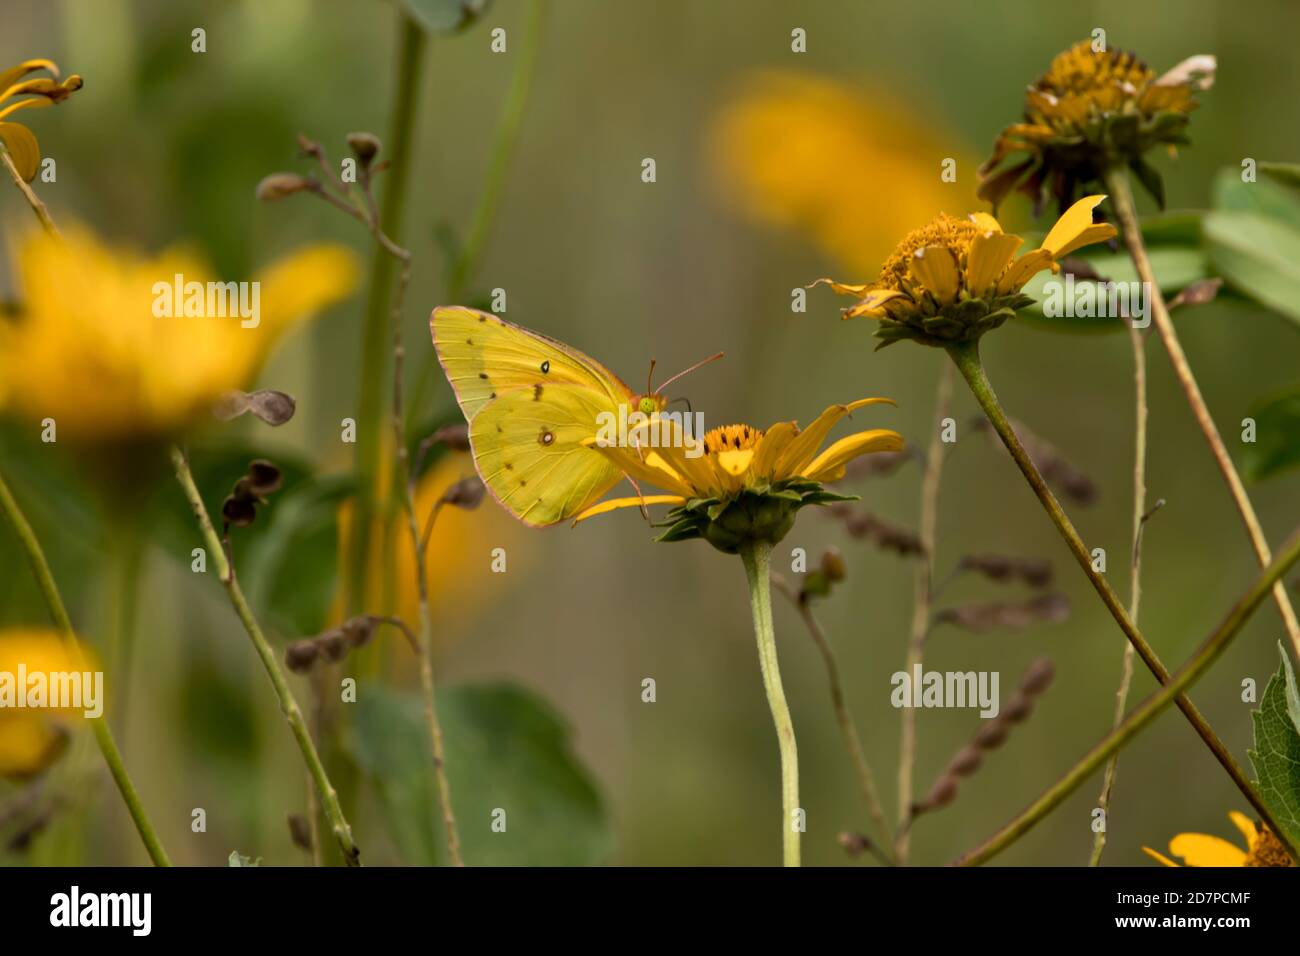
[[[386,455],[385,462],[387,459]],[[425,471],[416,485],[415,502],[421,529],[443,493],[456,481],[472,477],[473,473],[473,464],[463,454],[446,454]],[[338,522],[339,581],[343,584],[347,581],[351,523],[352,503],[346,502],[339,510]],[[472,620],[482,610],[493,592],[514,580],[514,576],[526,566],[529,544],[520,533],[521,528],[523,525],[498,507],[478,507],[473,511],[443,507],[439,511],[425,558],[429,607],[433,613],[437,646],[452,643],[452,637],[465,622]],[[370,535],[370,566],[381,568],[381,572],[369,575],[369,598],[356,610],[372,614],[391,613],[419,631],[420,596],[416,592],[415,549],[411,546],[411,533],[404,514],[398,515],[391,523],[389,536],[389,542],[385,545],[382,528],[378,525]],[[493,574],[494,548],[506,550],[510,574]],[[346,596],[341,593],[330,615],[334,623],[347,617],[346,605]]]

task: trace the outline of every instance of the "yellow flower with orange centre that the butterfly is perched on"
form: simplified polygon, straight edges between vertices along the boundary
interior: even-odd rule
[[[660,541],[702,537],[728,554],[755,542],[776,544],[794,524],[796,512],[807,505],[849,498],[827,492],[822,483],[844,477],[848,462],[872,451],[900,451],[902,436],[875,428],[840,438],[820,450],[831,429],[846,415],[888,398],[862,398],[832,405],[811,425],[779,421],[766,432],[749,425],[724,425],[693,438],[676,421],[651,419],[633,429],[628,445],[585,442],[606,455],[625,475],[647,481],[671,494],[614,498],[589,507],[575,519],[625,507],[676,505],[668,512],[668,529]],[[659,425],[659,442],[644,438]]]

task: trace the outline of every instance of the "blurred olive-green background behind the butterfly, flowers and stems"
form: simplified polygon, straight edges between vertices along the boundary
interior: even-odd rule
[[[320,239],[347,243],[368,261],[369,247],[355,222],[307,199],[259,206],[254,187],[274,170],[307,170],[295,157],[299,131],[334,156],[348,131],[385,135],[398,36],[391,4],[10,0],[0,16],[0,65],[51,57],[86,79],[69,103],[23,117],[43,152],[58,163],[56,183],[34,183],[56,220],[86,221],[114,245],[156,250],[188,241],[224,278],[247,276]],[[190,51],[190,31],[199,26],[207,30],[203,55]],[[489,31],[497,26],[510,36],[504,55],[489,49]],[[832,402],[889,395],[898,408],[872,408],[858,416],[859,427],[896,428],[923,447],[944,356],[910,346],[874,352],[870,328],[841,324],[841,303],[824,291],[810,294],[807,313],[790,312],[790,290],[818,276],[871,276],[849,274],[803,233],[774,229],[729,202],[710,146],[715,120],[753,70],[832,78],[867,101],[879,94],[901,104],[928,130],[942,151],[918,163],[932,163],[937,181],[942,156],[978,161],[997,131],[1018,117],[1026,83],[1097,26],[1112,46],[1140,52],[1157,72],[1192,53],[1218,56],[1217,85],[1201,95],[1193,114],[1195,146],[1176,161],[1156,157],[1171,208],[1205,208],[1217,172],[1239,168],[1245,156],[1300,157],[1300,65],[1294,55],[1300,8],[1282,0],[1249,8],[1210,0],[797,8],[777,0],[566,0],[547,8],[517,150],[467,298],[506,289],[507,319],[575,345],[633,384],[651,356],[662,369],[676,371],[725,350],[724,362],[682,382],[710,425],[807,421]],[[803,55],[790,52],[793,27],[807,31]],[[426,320],[443,302],[437,235],[448,229],[463,234],[472,216],[523,33],[523,4],[498,0],[477,25],[429,40],[406,211],[415,263],[404,310],[410,381],[432,360]],[[894,130],[883,126],[879,135],[888,142]],[[656,161],[654,183],[641,181],[644,157]],[[827,176],[833,176],[841,160],[826,159]],[[846,195],[858,187],[853,181],[835,185]],[[974,164],[962,161],[958,182],[936,182],[935,189],[952,190],[952,198],[941,199],[939,191],[933,213],[975,208]],[[8,226],[26,226],[30,219],[8,182],[0,189],[0,219]],[[1010,204],[1008,220],[1030,225],[1020,200]],[[864,243],[884,248],[901,238],[881,237],[871,221],[862,230]],[[21,295],[6,273],[0,271],[0,299]],[[359,289],[281,345],[257,384],[294,394],[298,415],[274,433],[240,424],[243,440],[325,473],[346,471],[350,449],[338,441],[338,421],[355,414],[363,310]],[[1235,451],[1238,423],[1251,406],[1296,384],[1297,329],[1240,298],[1188,310],[1179,328]],[[1134,418],[1127,337],[1061,336],[1013,323],[985,342],[984,355],[1010,414],[1097,484],[1097,502],[1074,509],[1074,516],[1089,545],[1106,548],[1109,575],[1126,594]],[[1176,666],[1244,589],[1256,564],[1156,339],[1148,342],[1148,486],[1152,501],[1167,503],[1148,525],[1141,626],[1166,663]],[[77,389],[78,382],[66,386]],[[450,420],[454,405],[441,376],[429,394],[416,416]],[[96,397],[86,394],[84,401]],[[1044,557],[1053,562],[1056,587],[1069,596],[1072,613],[1065,623],[1020,632],[940,628],[930,640],[927,669],[997,670],[1004,700],[1036,657],[1056,662],[1057,682],[957,801],[916,825],[913,856],[923,864],[944,862],[985,836],[1109,728],[1123,650],[1119,632],[1010,460],[968,428],[976,411],[958,389],[953,416],[959,440],[940,497],[937,572],[972,551]],[[103,646],[104,609],[120,597],[109,574],[112,540],[87,503],[92,496],[74,458],[32,445],[34,429],[14,420],[4,425],[4,466],[51,553],[78,630]],[[49,460],[35,460],[42,455]],[[198,468],[199,451],[195,458]],[[456,467],[471,473],[468,459]],[[915,527],[918,486],[919,468],[911,462],[850,490],[874,514]],[[1297,516],[1300,477],[1290,473],[1251,490],[1270,538],[1279,542]],[[162,484],[159,493],[179,503],[174,485]],[[494,507],[484,505],[485,511]],[[480,520],[480,514],[465,525],[471,538],[462,571],[464,587],[477,594],[472,611],[458,613],[456,593],[446,594],[438,611],[445,622],[439,680],[447,688],[523,685],[569,726],[594,791],[573,797],[582,805],[572,819],[549,818],[556,829],[552,844],[582,842],[592,849],[575,857],[555,849],[550,858],[775,862],[777,754],[740,562],[703,544],[655,545],[634,512],[545,532],[516,531]],[[266,862],[303,861],[285,827],[285,814],[302,810],[303,775],[266,682],[221,589],[190,574],[185,538],[152,533],[159,531],[152,524],[148,531],[133,689],[120,741],[146,804],[178,862],[224,864],[233,849]],[[250,538],[257,532],[251,528]],[[489,572],[489,553],[498,545],[517,546],[525,555],[504,575]],[[849,702],[892,814],[898,711],[889,704],[889,678],[905,654],[913,563],[849,540],[840,524],[814,512],[801,516],[779,557],[798,546],[815,561],[827,545],[844,551],[849,579],[818,614],[838,650]],[[8,528],[0,528],[0,623],[44,623]],[[944,600],[1019,596],[1010,587],[962,579]],[[809,819],[805,860],[844,864],[837,832],[866,829],[868,821],[822,662],[797,615],[777,601]],[[264,606],[257,610],[276,617]],[[300,636],[283,624],[272,630],[277,641]],[[1262,691],[1277,669],[1280,637],[1277,611],[1266,605],[1192,695],[1243,762],[1251,705],[1240,700],[1242,682],[1252,678]],[[382,661],[370,672],[363,661],[343,670],[359,678],[363,704],[372,691],[413,685],[415,662],[403,646],[393,641],[376,654]],[[356,671],[348,670],[352,663]],[[644,678],[656,682],[654,704],[641,701]],[[110,676],[110,695],[113,682]],[[1152,687],[1139,666],[1131,701]],[[306,682],[295,679],[295,688],[307,697]],[[482,701],[463,704],[472,711]],[[455,721],[448,722],[454,736]],[[979,723],[974,711],[918,715],[920,792]],[[490,766],[510,760],[517,741],[486,734],[478,743],[465,748],[463,760]],[[65,760],[84,747],[79,741]],[[92,750],[81,756],[84,766],[98,769]],[[402,756],[389,757],[377,766],[402,773]],[[84,823],[64,806],[31,847],[0,858],[143,862],[117,795],[100,778],[82,791],[90,806]],[[493,803],[500,799],[493,790],[500,780],[494,780],[482,801],[467,797],[458,808],[463,829],[486,832],[491,808],[500,805]],[[1089,782],[998,862],[1084,864],[1098,788],[1100,779]],[[367,858],[417,861],[385,817],[399,812],[394,808],[420,809],[419,788],[394,799],[381,790],[363,782],[352,797],[354,829]],[[17,784],[0,788],[0,800],[22,792]],[[595,792],[603,810],[588,805]],[[1149,864],[1143,844],[1164,848],[1186,830],[1232,836],[1226,813],[1247,810],[1243,803],[1186,721],[1166,713],[1123,750],[1105,862]],[[190,827],[196,806],[208,814],[203,834]],[[602,812],[607,830],[598,819]],[[571,823],[573,836],[564,831]],[[500,861],[542,860],[507,853]]]

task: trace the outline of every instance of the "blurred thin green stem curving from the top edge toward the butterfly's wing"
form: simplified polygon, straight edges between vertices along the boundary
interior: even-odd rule
[[[500,206],[502,191],[506,186],[506,174],[510,172],[510,160],[515,155],[515,144],[519,140],[519,130],[524,122],[524,112],[528,107],[528,98],[533,88],[533,75],[537,66],[537,53],[541,48],[542,25],[545,21],[546,4],[542,0],[530,0],[528,16],[524,23],[524,36],[520,43],[519,62],[511,78],[510,91],[502,103],[500,117],[497,121],[497,138],[493,143],[491,156],[488,160],[488,173],[484,178],[482,190],[478,194],[478,203],[474,207],[473,217],[469,221],[469,232],[465,242],[460,246],[448,277],[446,299],[448,304],[458,304],[465,294],[469,282],[473,281],[478,269],[478,260],[488,243],[493,221],[497,219],[497,208]],[[424,407],[429,388],[439,368],[437,359],[430,351],[420,368],[412,394],[411,408],[417,412]]]

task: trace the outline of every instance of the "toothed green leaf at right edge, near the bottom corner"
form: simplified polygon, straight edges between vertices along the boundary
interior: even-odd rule
[[[1288,711],[1296,697],[1291,659],[1279,645],[1282,666],[1269,679],[1260,709],[1251,714],[1254,748],[1249,752],[1260,797],[1292,845],[1300,845],[1300,728]]]

